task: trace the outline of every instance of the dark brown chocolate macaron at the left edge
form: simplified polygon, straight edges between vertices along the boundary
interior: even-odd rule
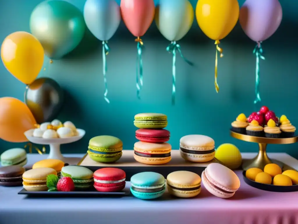
[[[25,168],[18,165],[0,167],[0,185],[22,186],[24,172]]]

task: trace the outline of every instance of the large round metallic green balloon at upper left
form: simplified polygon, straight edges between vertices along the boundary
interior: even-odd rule
[[[66,1],[41,2],[31,13],[31,33],[50,59],[60,59],[74,50],[83,39],[85,29],[83,14]]]

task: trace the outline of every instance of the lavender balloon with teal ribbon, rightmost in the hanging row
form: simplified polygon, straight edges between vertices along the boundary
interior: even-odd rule
[[[260,42],[275,33],[282,17],[278,0],[246,0],[240,9],[239,22],[250,39]]]

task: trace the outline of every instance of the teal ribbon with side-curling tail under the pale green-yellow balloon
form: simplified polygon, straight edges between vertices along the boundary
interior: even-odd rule
[[[167,51],[173,54],[173,65],[172,65],[172,105],[175,105],[175,95],[176,95],[176,51],[180,53],[181,58],[189,65],[193,66],[193,62],[190,62],[186,58],[184,58],[181,47],[176,41],[172,41],[167,46]]]

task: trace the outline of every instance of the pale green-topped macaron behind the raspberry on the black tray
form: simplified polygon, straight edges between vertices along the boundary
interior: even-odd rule
[[[93,172],[83,166],[63,166],[60,174],[61,177],[71,177],[78,190],[90,188],[94,183]]]

